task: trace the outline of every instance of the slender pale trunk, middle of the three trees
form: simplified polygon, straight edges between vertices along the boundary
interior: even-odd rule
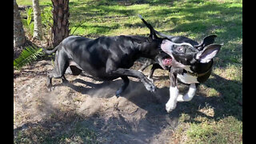
[[[42,39],[42,18],[38,0],[32,0],[34,10],[34,38]]]

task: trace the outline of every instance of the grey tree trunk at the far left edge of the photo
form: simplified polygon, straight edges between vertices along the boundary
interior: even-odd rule
[[[14,47],[23,46],[25,42],[26,38],[22,26],[21,15],[19,14],[16,0],[14,0]]]

